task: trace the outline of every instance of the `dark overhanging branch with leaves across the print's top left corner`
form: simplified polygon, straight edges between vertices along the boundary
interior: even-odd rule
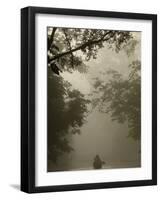
[[[108,44],[118,52],[132,35],[127,31],[48,28],[48,66],[57,63],[61,70],[87,70],[85,62],[96,59],[99,49]],[[82,68],[80,67],[82,66]]]

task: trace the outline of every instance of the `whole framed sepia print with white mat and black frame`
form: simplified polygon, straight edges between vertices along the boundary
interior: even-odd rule
[[[157,184],[157,16],[21,10],[21,190]]]

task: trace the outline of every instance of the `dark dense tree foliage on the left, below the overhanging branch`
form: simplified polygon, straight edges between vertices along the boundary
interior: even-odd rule
[[[48,160],[57,161],[65,152],[71,152],[70,134],[79,134],[85,122],[89,100],[69,82],[48,70]]]

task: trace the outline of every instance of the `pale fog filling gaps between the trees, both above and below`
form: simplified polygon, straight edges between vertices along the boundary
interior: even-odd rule
[[[108,69],[115,69],[126,77],[131,61],[140,60],[140,33],[133,33],[133,36],[138,44],[132,56],[127,56],[125,50],[116,53],[105,46],[99,51],[97,59],[88,62],[87,73],[63,72],[62,77],[69,81],[74,89],[90,98],[95,77],[102,77],[104,80],[104,73]],[[140,141],[128,137],[126,122],[112,121],[109,114],[100,112],[96,106],[87,115],[80,131],[81,134],[71,136],[70,142],[74,151],[59,158],[58,169],[92,169],[96,155],[105,161],[103,168],[140,167]]]

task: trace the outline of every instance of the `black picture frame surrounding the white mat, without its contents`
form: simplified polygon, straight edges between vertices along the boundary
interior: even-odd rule
[[[35,15],[59,14],[152,21],[152,179],[35,186]],[[45,7],[21,9],[21,190],[27,193],[157,184],[157,15]]]

